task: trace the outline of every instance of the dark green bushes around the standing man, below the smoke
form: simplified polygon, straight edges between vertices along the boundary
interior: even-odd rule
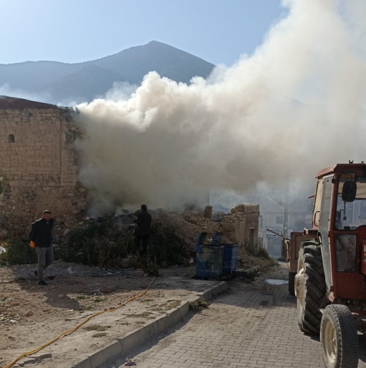
[[[149,258],[141,257],[135,249],[133,228],[119,231],[111,218],[90,222],[85,227],[72,229],[61,245],[60,257],[99,267],[118,267],[120,260],[133,254],[132,264],[155,274],[158,266],[182,264],[188,257],[184,240],[177,236],[173,226],[154,221],[149,239]]]

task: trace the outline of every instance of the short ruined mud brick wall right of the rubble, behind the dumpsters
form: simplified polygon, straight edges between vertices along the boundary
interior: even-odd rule
[[[255,254],[258,251],[259,205],[245,204],[236,207],[235,240]]]

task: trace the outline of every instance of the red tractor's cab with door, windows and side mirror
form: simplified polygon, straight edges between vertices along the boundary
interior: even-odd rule
[[[338,164],[317,178],[313,229],[318,231],[329,301],[366,300],[366,165]]]

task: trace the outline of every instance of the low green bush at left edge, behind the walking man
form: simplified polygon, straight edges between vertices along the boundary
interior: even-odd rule
[[[6,249],[2,253],[1,261],[9,264],[37,263],[37,255],[34,248],[29,246],[29,242],[20,239],[8,239],[0,244]]]

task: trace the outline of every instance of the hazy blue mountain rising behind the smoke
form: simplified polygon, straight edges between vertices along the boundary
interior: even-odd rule
[[[103,97],[113,82],[139,85],[144,75],[189,83],[194,76],[207,78],[214,65],[162,42],[132,47],[117,54],[82,63],[26,61],[0,64],[0,93],[47,96],[43,102],[91,101]],[[44,101],[46,100],[46,101]]]

